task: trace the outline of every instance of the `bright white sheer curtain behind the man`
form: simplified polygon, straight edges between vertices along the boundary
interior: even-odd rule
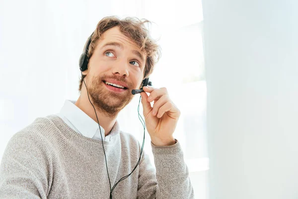
[[[181,109],[174,136],[183,146],[197,198],[206,198],[206,83],[200,0],[1,0],[0,158],[10,137],[36,117],[78,98],[78,58],[98,21],[109,15],[154,22],[162,57],[150,80]],[[120,113],[122,130],[142,142],[139,96]],[[142,105],[141,105],[142,106]],[[147,134],[145,150],[152,158]],[[153,159],[152,163],[153,163]]]

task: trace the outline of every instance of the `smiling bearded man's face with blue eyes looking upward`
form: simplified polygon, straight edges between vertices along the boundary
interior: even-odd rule
[[[85,83],[93,105],[115,116],[132,100],[131,91],[140,88],[145,64],[144,52],[119,27],[105,31],[96,43],[88,69],[82,72],[87,75]],[[116,88],[119,86],[122,88]]]

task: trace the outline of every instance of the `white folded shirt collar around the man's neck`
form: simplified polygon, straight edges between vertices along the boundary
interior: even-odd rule
[[[64,115],[74,127],[83,135],[89,138],[93,138],[95,133],[99,131],[99,125],[89,115],[82,111],[75,104],[75,100],[65,100],[63,107],[60,110],[60,114]],[[100,126],[102,138],[104,140],[104,129]],[[113,136],[119,133],[119,124],[116,120],[109,135]]]

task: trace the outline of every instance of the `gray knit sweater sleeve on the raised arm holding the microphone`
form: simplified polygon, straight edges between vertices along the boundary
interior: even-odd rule
[[[151,142],[151,147],[156,170],[150,166],[149,157],[143,156],[138,199],[194,199],[180,143],[177,141],[171,146],[155,146]]]

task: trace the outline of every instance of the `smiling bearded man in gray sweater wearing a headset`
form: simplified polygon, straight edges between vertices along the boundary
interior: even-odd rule
[[[36,118],[9,140],[0,166],[1,199],[194,198],[173,137],[180,111],[167,90],[144,87],[141,93],[156,171],[145,153],[134,170],[141,146],[116,120],[159,57],[146,22],[105,17],[97,24],[85,46],[89,59],[81,70],[80,97],[66,100],[57,114]]]

